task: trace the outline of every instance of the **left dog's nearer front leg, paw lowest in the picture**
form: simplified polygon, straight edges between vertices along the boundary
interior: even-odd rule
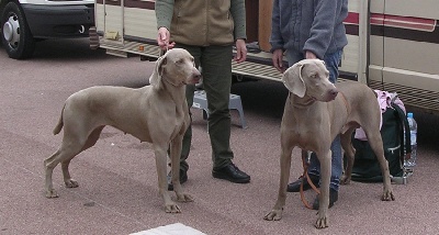
[[[156,167],[158,177],[158,189],[160,195],[164,198],[166,213],[180,213],[181,210],[176,202],[172,201],[168,192],[168,181],[166,176],[167,169],[167,145],[154,146],[156,155]]]

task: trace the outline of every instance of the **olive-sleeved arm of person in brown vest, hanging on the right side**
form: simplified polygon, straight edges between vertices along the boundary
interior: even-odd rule
[[[236,45],[235,61],[241,63],[247,59],[246,46],[246,8],[244,0],[230,1],[230,14],[234,19],[234,38]]]

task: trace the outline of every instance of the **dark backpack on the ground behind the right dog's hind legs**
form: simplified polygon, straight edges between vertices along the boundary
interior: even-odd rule
[[[382,114],[381,136],[391,176],[402,177],[404,175],[404,155],[412,153],[409,132],[405,132],[406,141],[404,143],[404,128],[409,130],[408,121],[397,104],[392,102],[391,105],[392,108],[387,108]],[[356,155],[351,179],[362,182],[382,182],[380,164],[368,141],[357,139],[352,135],[352,146],[356,148]]]

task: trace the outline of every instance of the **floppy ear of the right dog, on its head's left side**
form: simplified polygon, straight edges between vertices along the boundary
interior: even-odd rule
[[[285,72],[283,72],[282,81],[283,85],[295,96],[303,98],[306,92],[305,82],[302,78],[302,68],[305,65],[301,61],[294,64]]]

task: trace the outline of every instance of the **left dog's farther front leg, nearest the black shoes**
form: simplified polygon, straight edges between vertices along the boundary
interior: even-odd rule
[[[172,184],[173,191],[177,194],[177,201],[179,202],[192,202],[193,198],[190,194],[183,192],[180,183],[180,155],[182,147],[183,136],[177,136],[170,146],[170,157],[171,157],[171,171],[172,171]]]

